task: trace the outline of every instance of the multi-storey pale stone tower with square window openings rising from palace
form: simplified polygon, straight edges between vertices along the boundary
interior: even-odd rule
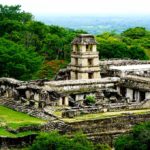
[[[100,78],[99,53],[93,35],[81,34],[72,41],[71,80]]]

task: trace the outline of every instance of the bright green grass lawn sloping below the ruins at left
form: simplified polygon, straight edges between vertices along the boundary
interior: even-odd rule
[[[14,111],[4,106],[0,106],[0,136],[16,137],[16,136],[25,136],[28,134],[33,134],[34,131],[27,131],[18,134],[13,134],[10,133],[7,130],[7,128],[11,128],[15,130],[19,127],[25,127],[31,125],[36,126],[36,125],[45,124],[46,122],[47,121],[45,120],[31,117],[27,114]]]

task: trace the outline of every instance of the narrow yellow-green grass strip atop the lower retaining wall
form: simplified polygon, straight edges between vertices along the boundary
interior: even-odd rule
[[[127,114],[145,114],[145,113],[150,113],[150,109],[126,110],[126,111],[124,110],[124,111],[117,111],[117,112],[86,114],[86,115],[80,115],[74,118],[62,118],[62,120],[65,122],[78,122],[78,121],[92,120],[92,119],[111,118],[111,117],[123,116]]]

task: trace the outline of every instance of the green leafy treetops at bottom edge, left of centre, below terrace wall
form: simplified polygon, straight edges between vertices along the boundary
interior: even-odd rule
[[[93,144],[86,136],[77,134],[67,138],[58,132],[41,133],[34,141],[30,150],[94,150]]]

